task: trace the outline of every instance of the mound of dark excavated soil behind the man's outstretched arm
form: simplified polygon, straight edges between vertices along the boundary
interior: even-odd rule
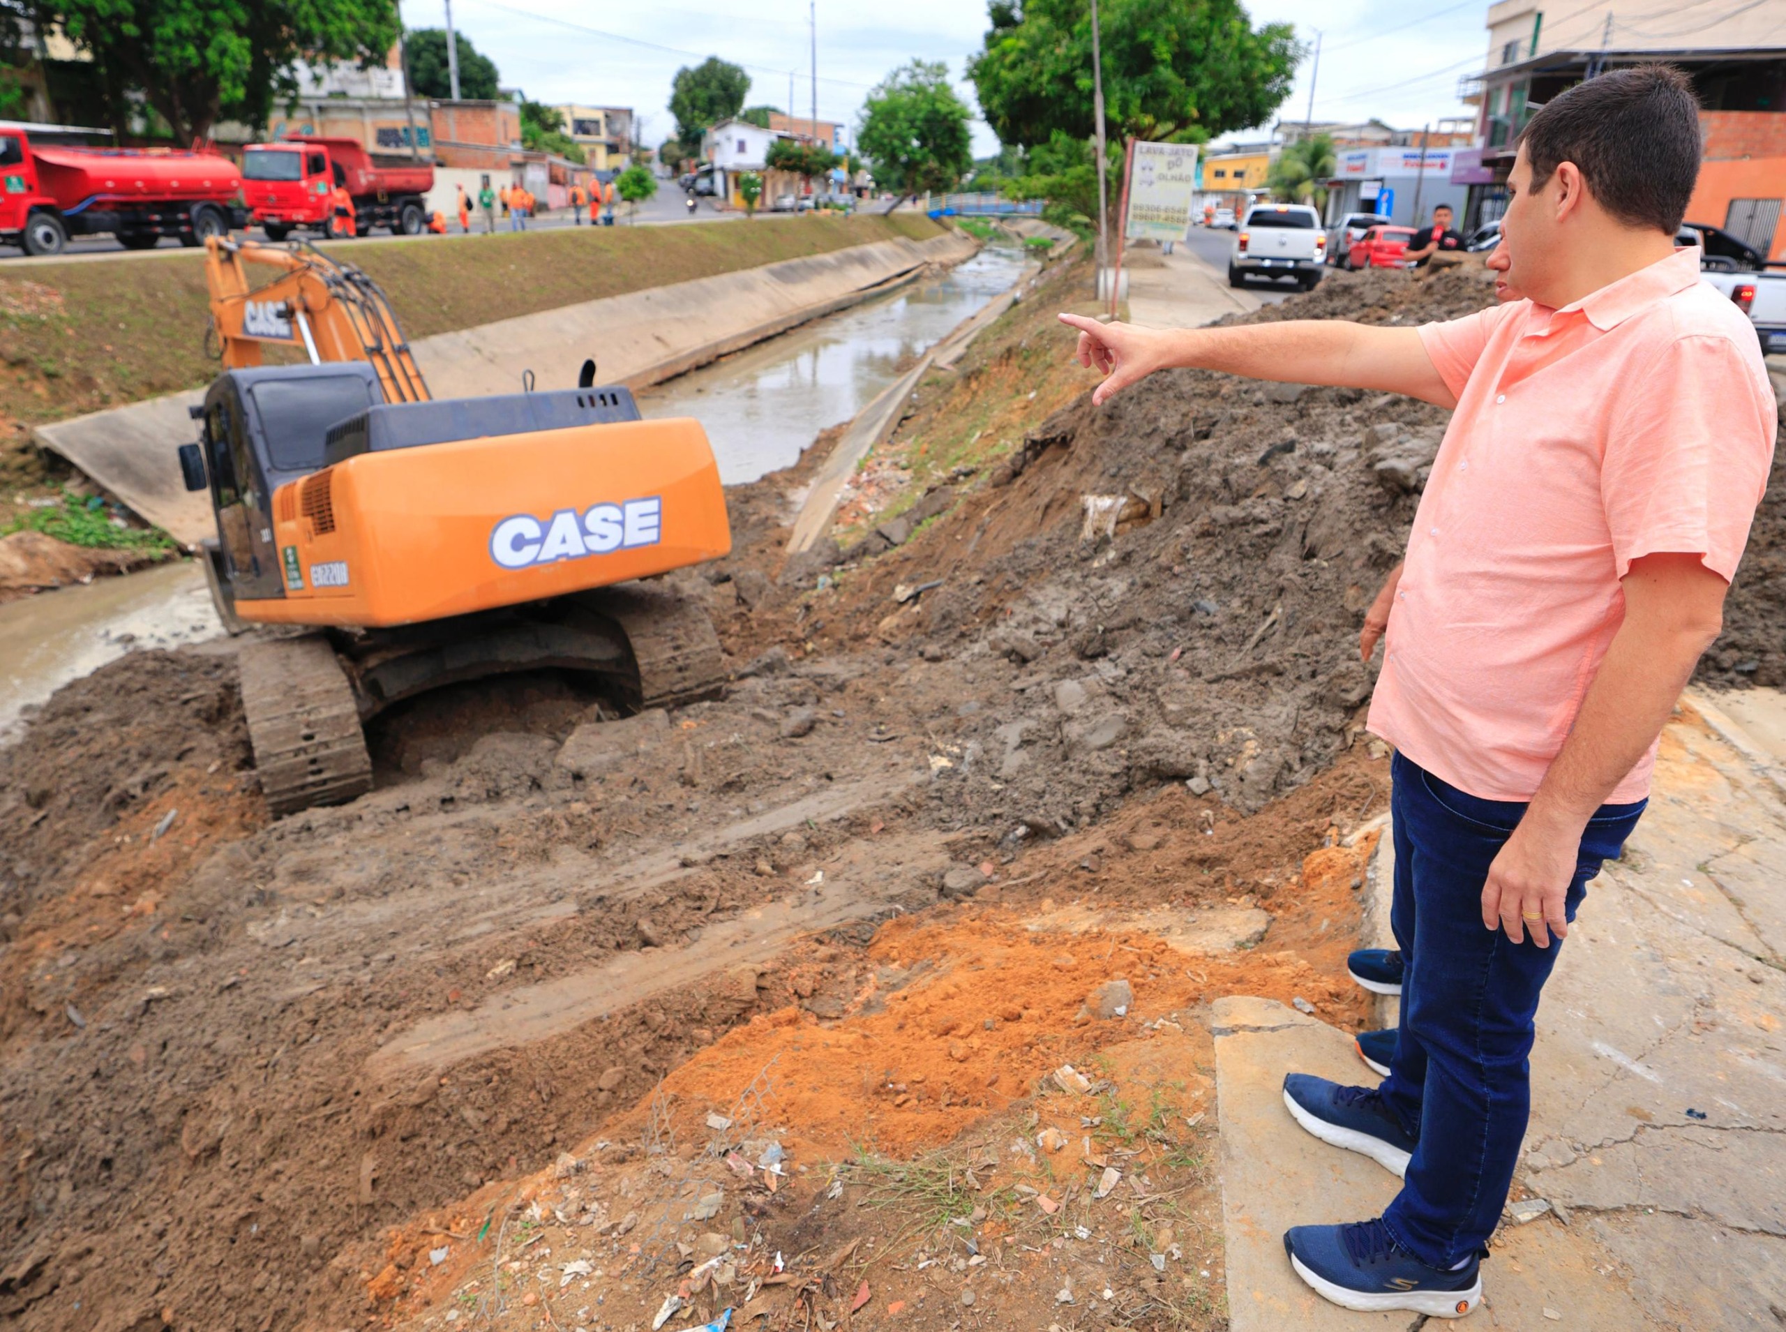
[[[1481,270],[1336,275],[1250,318],[1420,323],[1490,298]],[[1156,375],[1104,409],[1081,396],[991,486],[829,575],[805,614],[941,662],[914,664],[911,684],[970,668],[1002,680],[948,709],[959,739],[939,798],[957,821],[1054,836],[1168,780],[1254,811],[1357,734],[1373,680],[1357,627],[1447,418],[1206,371]]]

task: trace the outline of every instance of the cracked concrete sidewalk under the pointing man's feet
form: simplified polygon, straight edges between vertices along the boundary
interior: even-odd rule
[[[1606,866],[1538,1012],[1532,1121],[1472,1325],[1786,1323],[1786,698],[1690,695],[1650,807]],[[1384,837],[1384,857],[1388,855]],[[1388,893],[1390,864],[1372,891]],[[1372,920],[1386,920],[1379,900]],[[1288,1020],[1286,1020],[1288,1018]],[[1223,1020],[1218,1014],[1218,1027]],[[1309,1139],[1284,1071],[1329,1073],[1345,1037],[1295,1012],[1227,1014],[1216,1039],[1232,1332],[1384,1327],[1307,1302],[1293,1221],[1363,1220],[1395,1180]],[[1356,1057],[1340,1075],[1368,1084]],[[1232,1170],[1229,1145],[1248,1162]],[[1261,1170],[1257,1161],[1270,1162]],[[1357,1178],[1359,1170],[1365,1171]],[[1379,1178],[1381,1177],[1381,1178]],[[1295,1212],[1295,1216],[1289,1216]],[[1286,1321],[1293,1312],[1293,1321]],[[1393,1327],[1413,1327],[1413,1314]]]

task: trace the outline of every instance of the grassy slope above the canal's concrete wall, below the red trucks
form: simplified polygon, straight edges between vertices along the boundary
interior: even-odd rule
[[[852,245],[939,234],[934,221],[911,212],[814,214],[327,248],[386,289],[409,337],[427,337]],[[207,321],[200,252],[0,271],[0,529],[27,498],[54,493],[66,475],[30,446],[30,427],[205,384],[218,371],[205,354]]]

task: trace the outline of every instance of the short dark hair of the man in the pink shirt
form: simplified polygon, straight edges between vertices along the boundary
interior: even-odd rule
[[[1534,191],[1575,162],[1615,218],[1673,236],[1698,180],[1698,96],[1672,64],[1615,70],[1540,107],[1520,143]]]

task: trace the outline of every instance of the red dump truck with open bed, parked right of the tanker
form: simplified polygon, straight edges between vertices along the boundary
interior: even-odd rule
[[[434,168],[377,166],[355,139],[293,134],[279,143],[248,145],[241,155],[243,191],[254,220],[273,241],[293,230],[329,232],[334,189],[354,198],[354,227],[420,236],[429,218],[421,196],[434,187]]]

